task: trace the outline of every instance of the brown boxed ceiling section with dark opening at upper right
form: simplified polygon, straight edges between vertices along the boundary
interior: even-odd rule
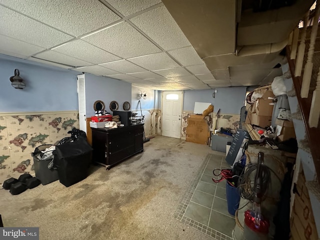
[[[273,67],[314,0],[162,2],[216,80],[257,85],[281,74]]]

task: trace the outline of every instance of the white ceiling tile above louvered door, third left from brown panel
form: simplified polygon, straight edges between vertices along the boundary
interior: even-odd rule
[[[82,40],[75,40],[54,48],[53,51],[63,53],[94,64],[115,61],[121,59],[105,50]]]

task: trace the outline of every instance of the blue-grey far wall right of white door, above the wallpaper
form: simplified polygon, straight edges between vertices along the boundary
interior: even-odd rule
[[[216,88],[215,97],[212,97],[213,89],[185,90],[183,92],[183,111],[193,111],[194,102],[211,102],[214,112],[220,108],[221,113],[240,114],[240,108],[244,106],[245,86]]]

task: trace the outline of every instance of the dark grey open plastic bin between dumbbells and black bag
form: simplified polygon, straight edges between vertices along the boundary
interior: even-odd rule
[[[56,169],[49,169],[48,164],[52,159],[40,160],[34,156],[33,152],[31,153],[33,157],[33,166],[36,178],[38,178],[42,185],[48,184],[52,181],[59,179],[58,171]]]

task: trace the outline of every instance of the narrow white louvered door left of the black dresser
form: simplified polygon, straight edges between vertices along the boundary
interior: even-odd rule
[[[84,74],[77,75],[78,103],[79,103],[79,125],[80,130],[86,132],[85,117],[85,81]]]

